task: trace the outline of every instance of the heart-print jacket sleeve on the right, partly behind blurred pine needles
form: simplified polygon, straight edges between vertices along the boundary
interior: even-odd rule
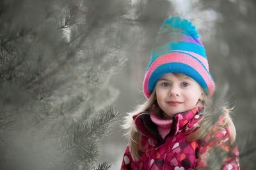
[[[215,125],[212,132],[199,143],[196,169],[240,169],[239,151],[236,144],[231,144],[228,127]]]

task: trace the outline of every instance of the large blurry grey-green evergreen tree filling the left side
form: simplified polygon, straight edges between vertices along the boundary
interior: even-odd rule
[[[127,8],[0,1],[0,169],[109,168],[95,158],[118,116],[108,83],[127,60]]]

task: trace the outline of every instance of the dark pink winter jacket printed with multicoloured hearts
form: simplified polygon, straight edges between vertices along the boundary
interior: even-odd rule
[[[186,132],[193,126],[197,126],[198,109],[184,113],[177,113],[173,117],[170,133],[163,139],[157,131],[157,125],[150,120],[149,115],[138,114],[133,117],[138,131],[141,132],[141,146],[144,151],[140,152],[141,159],[135,162],[127,146],[122,161],[121,170],[124,169],[211,169],[207,165],[207,156],[216,148],[218,153],[227,153],[225,160],[218,160],[218,169],[233,170],[239,167],[239,152],[236,145],[230,144],[228,128],[223,126],[223,116],[218,124],[212,127],[214,134],[206,136],[204,140],[188,141]],[[216,146],[216,147],[214,147]]]

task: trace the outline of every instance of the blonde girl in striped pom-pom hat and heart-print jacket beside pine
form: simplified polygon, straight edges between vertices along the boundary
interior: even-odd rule
[[[188,20],[164,20],[143,82],[147,101],[124,125],[121,169],[240,169],[230,110],[211,101],[214,81],[198,38]]]

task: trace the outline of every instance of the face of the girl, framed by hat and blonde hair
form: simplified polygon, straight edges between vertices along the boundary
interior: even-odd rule
[[[200,85],[188,76],[164,74],[156,83],[157,104],[164,111],[166,118],[172,118],[176,113],[192,110],[203,100]]]

